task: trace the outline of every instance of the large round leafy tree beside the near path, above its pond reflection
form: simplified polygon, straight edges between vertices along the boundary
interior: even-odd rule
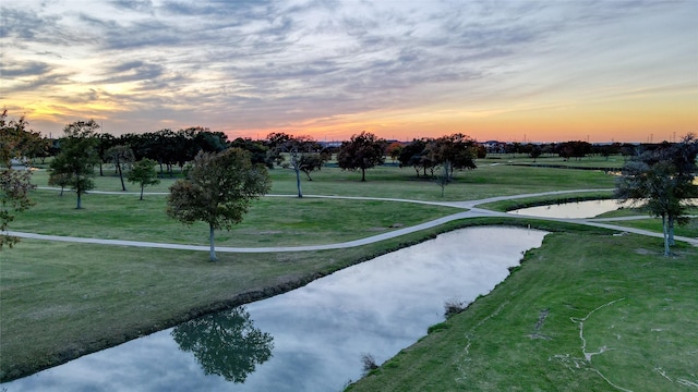
[[[230,230],[240,223],[251,201],[269,188],[266,167],[252,164],[248,151],[240,148],[201,151],[186,179],[170,186],[167,215],[188,225],[196,221],[208,223],[210,260],[216,261],[215,230]]]

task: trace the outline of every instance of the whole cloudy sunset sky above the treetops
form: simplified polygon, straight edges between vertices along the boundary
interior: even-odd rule
[[[0,105],[46,136],[698,133],[698,0],[0,0]]]

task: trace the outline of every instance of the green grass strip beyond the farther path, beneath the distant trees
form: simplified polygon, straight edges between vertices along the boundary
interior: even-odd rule
[[[613,188],[614,177],[600,171],[565,170],[546,168],[526,168],[512,166],[492,166],[479,163],[472,171],[459,171],[455,181],[448,184],[444,198],[441,187],[423,176],[417,177],[411,168],[381,167],[366,171],[366,182],[361,182],[361,173],[344,171],[337,168],[323,168],[313,173],[313,181],[303,176],[302,191],[305,195],[341,195],[396,198],[414,200],[473,200],[502,195],[540,193],[583,188]],[[107,173],[111,173],[107,171]],[[270,194],[296,195],[296,174],[290,169],[274,169]],[[174,180],[164,179],[156,186],[146,187],[146,192],[167,192]],[[37,171],[34,182],[47,186],[48,174]],[[96,189],[120,192],[117,176],[96,176]],[[140,189],[127,183],[127,189]],[[146,196],[147,197],[147,196]],[[74,198],[74,196],[73,196]],[[89,207],[89,195],[85,207]]]

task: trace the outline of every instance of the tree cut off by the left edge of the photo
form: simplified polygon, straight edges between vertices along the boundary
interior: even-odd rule
[[[16,213],[34,205],[29,199],[29,191],[36,187],[32,184],[32,171],[13,169],[12,160],[24,157],[34,140],[40,139],[37,133],[26,130],[28,123],[24,118],[7,121],[7,117],[8,111],[3,110],[0,113],[0,164],[4,167],[0,170],[0,250],[19,242],[5,231]]]

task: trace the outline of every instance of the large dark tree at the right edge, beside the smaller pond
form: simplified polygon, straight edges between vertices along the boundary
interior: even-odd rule
[[[677,144],[664,144],[630,158],[616,182],[615,197],[647,208],[653,217],[662,218],[664,256],[671,255],[674,224],[688,220],[686,210],[698,195],[694,185],[698,142],[689,134]]]

